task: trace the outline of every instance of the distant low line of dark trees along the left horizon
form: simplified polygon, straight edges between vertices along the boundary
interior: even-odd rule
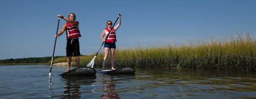
[[[55,56],[54,58],[63,57]],[[52,60],[52,57],[29,57],[29,58],[18,58],[18,59],[2,59],[0,63],[47,63]]]

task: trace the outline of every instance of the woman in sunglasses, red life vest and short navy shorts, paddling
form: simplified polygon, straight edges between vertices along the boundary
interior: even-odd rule
[[[106,64],[106,59],[108,58],[108,53],[110,51],[111,57],[111,69],[115,70],[114,68],[114,55],[115,55],[115,51],[116,51],[116,30],[119,28],[119,26],[121,25],[121,17],[122,14],[119,14],[119,23],[112,28],[112,22],[110,20],[107,21],[107,26],[106,28],[102,31],[102,35],[100,36],[100,39],[105,42],[104,44],[104,58],[102,61],[102,69],[105,69],[105,64]],[[112,30],[111,30],[112,28]],[[111,30],[111,32],[110,32]],[[110,34],[108,35],[108,33],[110,32]],[[103,37],[107,36],[107,39],[105,40]]]

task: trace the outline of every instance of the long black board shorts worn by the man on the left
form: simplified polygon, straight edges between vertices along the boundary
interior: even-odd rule
[[[66,47],[66,56],[67,57],[72,57],[73,55],[79,56],[80,54],[80,50],[79,50],[79,40],[78,38],[76,39],[68,39],[67,40],[67,47]]]

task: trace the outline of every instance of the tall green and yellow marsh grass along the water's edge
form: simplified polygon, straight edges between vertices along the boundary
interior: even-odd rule
[[[93,55],[80,57],[86,66]],[[101,67],[103,52],[95,59],[94,67]],[[229,39],[201,40],[180,45],[154,45],[148,48],[116,49],[115,65],[133,68],[203,68],[256,71],[256,40],[250,34]],[[74,58],[73,58],[74,59]],[[74,61],[74,60],[73,60]],[[54,63],[66,62],[57,58]],[[108,58],[107,66],[110,67]]]

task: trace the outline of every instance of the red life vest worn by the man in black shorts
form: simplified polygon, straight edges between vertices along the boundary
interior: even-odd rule
[[[76,25],[73,25],[71,23],[66,23],[67,24],[67,39],[72,39],[75,37],[81,37],[79,28],[76,27]]]

